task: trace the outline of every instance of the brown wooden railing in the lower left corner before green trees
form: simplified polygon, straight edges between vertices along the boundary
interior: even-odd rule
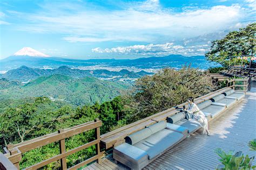
[[[42,162],[39,162],[38,164],[27,167],[25,169],[38,169],[45,165],[50,164],[51,162],[55,162],[57,160],[60,160],[60,165],[62,169],[67,169],[66,157],[68,157],[68,155],[84,150],[85,148],[90,147],[92,145],[96,145],[96,155],[83,162],[80,162],[75,166],[70,167],[69,169],[77,169],[95,160],[98,163],[100,163],[101,157],[103,156],[103,153],[100,152],[100,148],[99,148],[100,126],[102,126],[102,121],[99,121],[99,119],[95,119],[95,121],[92,121],[92,122],[87,122],[84,124],[73,126],[72,128],[68,128],[68,129],[61,129],[58,132],[46,134],[45,136],[24,141],[19,144],[15,144],[15,145],[9,144],[7,145],[7,148],[4,148],[5,150],[4,156],[8,158],[9,161],[17,167],[17,169],[19,169],[19,162],[22,160],[22,153],[59,141],[60,154],[56,155],[55,157],[44,160]],[[84,144],[82,146],[73,148],[72,150],[69,150],[69,151],[65,150],[65,138],[69,138],[69,137],[75,136],[76,134],[83,133],[85,131],[89,131],[93,129],[95,129],[95,140],[91,141],[90,143]],[[10,163],[8,162],[8,160],[2,159],[2,158],[0,159],[0,161],[4,163],[4,164],[3,163],[1,164],[3,165],[3,167],[5,167],[5,165],[9,165]]]

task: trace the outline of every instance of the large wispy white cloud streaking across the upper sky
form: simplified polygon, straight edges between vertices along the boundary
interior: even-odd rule
[[[159,1],[126,3],[122,9],[106,10],[76,3],[41,5],[42,11],[26,14],[18,29],[60,33],[69,42],[140,41],[161,43],[230,29],[246,17],[240,5],[213,6],[173,12]]]

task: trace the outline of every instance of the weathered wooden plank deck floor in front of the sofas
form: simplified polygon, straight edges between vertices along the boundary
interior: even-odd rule
[[[253,82],[244,100],[233,108],[227,109],[209,125],[213,134],[208,137],[200,130],[184,139],[144,169],[214,169],[219,164],[215,148],[224,151],[242,151],[250,156],[256,155],[247,146],[248,141],[256,138],[256,87]],[[256,165],[254,160],[253,165]],[[102,164],[94,163],[84,168],[89,169],[128,169],[121,164],[114,164],[110,158],[104,158]]]

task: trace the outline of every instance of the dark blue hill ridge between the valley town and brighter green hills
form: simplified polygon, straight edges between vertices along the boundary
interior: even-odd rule
[[[112,81],[117,81],[120,79],[138,79],[144,75],[151,75],[153,73],[148,73],[145,71],[140,72],[130,72],[129,70],[122,69],[119,72],[113,72],[106,69],[97,70],[81,70],[81,69],[71,69],[67,66],[60,66],[56,69],[39,69],[39,68],[29,68],[26,66],[21,66],[16,69],[9,70],[4,74],[0,74],[0,78],[6,78],[9,80],[16,81],[30,81],[36,79],[40,76],[49,76],[55,74],[62,74],[71,77],[85,77],[93,76],[102,79],[111,79]]]

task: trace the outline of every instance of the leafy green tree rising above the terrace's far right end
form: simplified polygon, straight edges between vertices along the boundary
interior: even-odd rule
[[[237,56],[255,55],[255,35],[256,23],[249,24],[239,31],[232,31],[223,39],[212,41],[210,51],[205,54],[206,59],[218,62],[223,67],[234,65],[234,62],[240,63],[241,59],[236,59]]]

